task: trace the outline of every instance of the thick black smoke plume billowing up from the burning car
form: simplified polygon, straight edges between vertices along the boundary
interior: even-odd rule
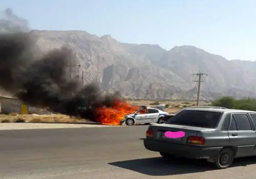
[[[30,105],[91,120],[96,107],[110,106],[120,96],[103,94],[97,83],[82,86],[70,79],[68,65],[75,59],[67,47],[37,59],[34,37],[26,32],[27,21],[11,10],[5,13],[9,19],[0,20],[0,86],[6,91]]]

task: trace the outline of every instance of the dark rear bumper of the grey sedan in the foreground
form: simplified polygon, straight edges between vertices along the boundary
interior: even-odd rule
[[[147,150],[165,152],[191,159],[216,158],[216,156],[219,154],[219,151],[222,149],[222,147],[181,145],[152,139],[144,139],[144,146]]]

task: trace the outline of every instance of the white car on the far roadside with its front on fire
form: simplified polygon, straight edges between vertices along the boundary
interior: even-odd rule
[[[157,107],[157,106],[156,106]],[[133,124],[150,124],[150,123],[163,123],[163,117],[168,113],[158,108],[141,106],[133,114],[125,115],[121,121],[121,125],[133,125]]]

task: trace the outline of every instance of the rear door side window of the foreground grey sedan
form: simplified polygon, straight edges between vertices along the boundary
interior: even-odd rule
[[[251,123],[246,114],[233,114],[238,130],[252,130]]]

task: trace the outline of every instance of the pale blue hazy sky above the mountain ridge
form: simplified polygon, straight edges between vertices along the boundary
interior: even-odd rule
[[[256,60],[254,0],[2,0],[40,30],[84,30],[121,42],[192,45],[227,59]]]

